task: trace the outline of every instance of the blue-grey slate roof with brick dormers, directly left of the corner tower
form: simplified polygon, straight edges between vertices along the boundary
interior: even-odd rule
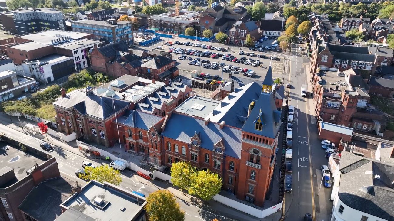
[[[224,126],[223,129],[220,129],[218,123],[209,122],[208,125],[204,125],[204,120],[172,113],[164,127],[162,136],[189,144],[190,138],[196,133],[199,134],[202,148],[212,150],[214,144],[223,138],[224,154],[238,159],[241,158],[242,133],[240,129],[233,127]]]

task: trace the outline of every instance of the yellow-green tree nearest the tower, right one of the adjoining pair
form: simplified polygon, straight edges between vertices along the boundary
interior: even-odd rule
[[[216,173],[200,170],[193,180],[189,193],[196,194],[203,200],[210,200],[220,192],[222,185],[223,180]]]

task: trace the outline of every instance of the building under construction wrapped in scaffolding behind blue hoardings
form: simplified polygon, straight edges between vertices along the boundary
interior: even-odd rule
[[[178,15],[177,15],[178,14]],[[148,19],[149,29],[166,34],[184,34],[192,27],[199,31],[200,13],[196,11],[175,11],[152,15]]]

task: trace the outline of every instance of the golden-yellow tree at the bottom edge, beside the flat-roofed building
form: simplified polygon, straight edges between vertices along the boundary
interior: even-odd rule
[[[147,197],[145,210],[149,221],[183,221],[185,212],[180,210],[179,203],[168,190],[157,190]]]

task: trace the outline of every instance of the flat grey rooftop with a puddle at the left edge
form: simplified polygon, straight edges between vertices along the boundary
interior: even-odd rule
[[[45,160],[36,157],[35,155],[28,155],[15,146],[9,146],[8,150],[4,147],[9,144],[5,142],[0,143],[0,168],[8,166],[14,169],[15,176],[18,180],[27,176],[26,170],[32,168],[35,164],[42,164]],[[17,180],[15,180],[17,181]]]

